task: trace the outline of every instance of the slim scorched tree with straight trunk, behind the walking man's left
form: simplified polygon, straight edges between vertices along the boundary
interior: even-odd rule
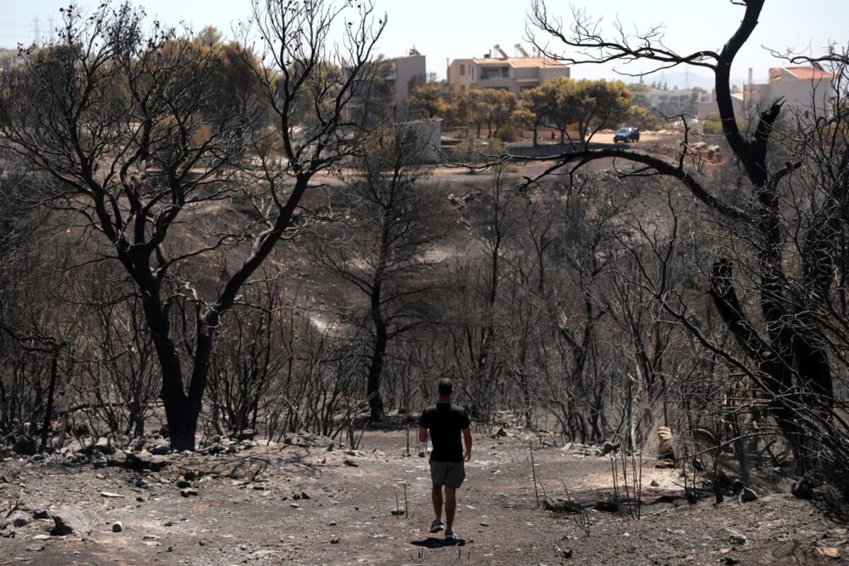
[[[384,416],[380,384],[390,343],[427,322],[422,297],[435,285],[435,261],[428,254],[439,234],[423,190],[428,180],[419,164],[422,149],[416,128],[380,128],[380,136],[353,161],[342,189],[350,231],[320,242],[315,253],[319,265],[368,301],[366,395],[375,420]],[[347,315],[363,324],[362,311]]]

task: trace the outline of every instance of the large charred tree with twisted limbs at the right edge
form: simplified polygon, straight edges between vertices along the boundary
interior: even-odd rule
[[[838,376],[829,358],[842,359],[834,328],[845,326],[845,316],[835,316],[831,303],[849,194],[846,106],[816,108],[815,104],[816,119],[808,121],[807,126],[799,122],[793,127],[779,123],[784,105],[779,99],[761,109],[745,131],[735,115],[730,72],[737,53],[756,28],[765,1],[740,0],[734,4],[743,8],[744,14],[728,42],[719,51],[694,53],[667,48],[659,28],[633,36],[619,27],[616,36],[610,38],[583,12],[576,12],[572,25],[565,27],[549,13],[543,0],[536,0],[531,8],[531,35],[537,34],[537,47],[559,60],[571,64],[638,61],[658,68],[689,64],[710,70],[715,76],[722,135],[742,171],[733,192],[723,193],[720,187],[708,185],[711,180],[700,174],[689,152],[688,135],[674,160],[635,150],[578,145],[560,155],[543,177],[554,171],[577,169],[593,160],[629,161],[634,166],[626,175],[677,179],[710,214],[721,219],[729,234],[745,242],[741,253],[720,254],[709,270],[712,300],[743,356],[718,348],[689,321],[679,303],[669,300],[669,295],[656,298],[703,345],[761,389],[779,429],[794,446],[796,461],[806,468],[820,442],[814,441],[815,437],[829,444],[833,454],[845,452],[838,446],[839,431],[846,430],[846,423],[835,411],[834,381]],[[543,37],[554,38],[563,48],[580,54],[554,53]],[[846,64],[841,53],[793,60],[835,64],[838,80]],[[836,90],[840,92],[841,88]],[[803,183],[812,189],[810,198],[804,202],[789,198]],[[798,208],[800,204],[804,213]],[[735,267],[745,265],[749,256],[755,261],[746,272],[736,273]],[[742,282],[751,284],[746,288],[751,296],[745,299],[756,303],[756,311],[739,295]]]

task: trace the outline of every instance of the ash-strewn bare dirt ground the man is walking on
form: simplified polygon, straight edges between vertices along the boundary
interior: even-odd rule
[[[402,456],[402,433],[367,434],[363,444],[357,455],[260,446],[177,456],[159,474],[6,460],[0,502],[7,509],[18,499],[31,508],[76,507],[92,532],[44,538],[52,522],[36,520],[0,538],[0,564],[835,564],[849,555],[844,527],[784,495],[720,507],[678,499],[645,506],[639,521],[591,512],[586,535],[572,515],[537,509],[525,440],[480,436],[458,492],[461,541],[447,546],[426,532],[425,459]],[[564,484],[579,501],[611,492],[609,460],[582,451],[535,451],[549,494],[561,496]],[[192,481],[198,496],[183,497],[175,486],[187,471],[202,474]],[[138,479],[147,486],[137,487]],[[653,479],[657,487],[649,487]],[[680,495],[677,482],[677,470],[647,462],[644,501]],[[404,484],[408,516],[393,516]],[[293,498],[302,492],[309,499]],[[115,521],[120,533],[111,530]],[[745,535],[745,544],[730,543],[731,534]],[[815,546],[835,548],[841,558]]]

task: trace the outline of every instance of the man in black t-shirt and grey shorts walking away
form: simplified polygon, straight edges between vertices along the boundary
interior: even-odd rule
[[[445,540],[456,541],[454,534],[454,512],[457,511],[457,488],[466,477],[464,461],[472,459],[472,434],[469,416],[462,406],[453,405],[451,398],[454,385],[449,378],[441,378],[438,385],[438,400],[422,412],[419,426],[419,442],[430,441],[430,479],[433,480],[433,511],[436,518],[430,524],[430,532],[442,530],[442,488],[445,488]],[[465,456],[460,444],[460,433],[466,445]]]

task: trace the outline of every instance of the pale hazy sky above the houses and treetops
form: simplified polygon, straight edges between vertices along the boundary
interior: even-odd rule
[[[427,56],[428,70],[445,76],[446,59],[480,57],[496,43],[507,53],[524,40],[530,0],[376,0],[389,14],[380,42],[386,56],[406,53],[415,46]],[[34,20],[43,34],[48,19],[59,21],[59,7],[68,0],[0,0],[0,46],[31,42]],[[171,25],[181,20],[200,28],[216,25],[227,34],[234,22],[249,15],[250,0],[140,0],[151,16]],[[83,0],[83,5],[93,5]],[[734,31],[743,8],[729,0],[549,0],[552,12],[571,14],[571,6],[604,17],[610,28],[618,15],[627,29],[666,25],[666,44],[679,53],[719,49]],[[849,0],[767,0],[760,25],[740,53],[733,76],[745,77],[754,68],[756,81],[765,80],[770,66],[779,66],[762,48],[821,51],[829,41],[849,43]],[[703,70],[694,73],[705,74]],[[613,70],[582,65],[575,77],[614,76]]]

